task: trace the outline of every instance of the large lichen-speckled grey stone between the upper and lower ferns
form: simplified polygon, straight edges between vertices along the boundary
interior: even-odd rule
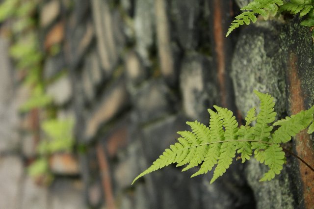
[[[279,31],[270,22],[242,29],[231,72],[235,102],[242,116],[253,106],[259,106],[254,89],[274,97],[277,116],[286,111],[286,59],[280,46]]]

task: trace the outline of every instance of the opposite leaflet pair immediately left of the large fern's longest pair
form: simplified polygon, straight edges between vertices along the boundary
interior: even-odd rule
[[[209,144],[208,153],[204,159],[203,164],[201,165],[201,168],[193,174],[191,177],[195,177],[200,174],[206,174],[208,171],[211,171],[212,167],[217,164],[218,158],[220,155],[220,146],[221,142],[224,140],[224,130],[222,128],[222,121],[220,120],[220,117],[218,116],[218,113],[212,111],[211,109],[208,109],[210,114],[210,120],[209,120],[209,130],[210,130],[210,141],[211,142],[217,142],[213,144]]]

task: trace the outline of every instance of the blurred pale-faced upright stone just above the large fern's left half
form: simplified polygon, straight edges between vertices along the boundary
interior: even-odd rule
[[[183,95],[183,110],[193,120],[209,123],[207,109],[218,103],[211,59],[200,54],[188,55],[182,64],[180,89]]]

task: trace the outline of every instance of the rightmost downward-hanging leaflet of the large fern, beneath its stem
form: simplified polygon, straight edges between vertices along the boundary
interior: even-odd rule
[[[270,145],[263,152],[263,156],[265,161],[264,164],[269,167],[269,170],[263,175],[260,182],[270,181],[275,178],[276,174],[280,174],[281,170],[283,169],[283,164],[286,161],[283,148],[281,148],[279,144]]]

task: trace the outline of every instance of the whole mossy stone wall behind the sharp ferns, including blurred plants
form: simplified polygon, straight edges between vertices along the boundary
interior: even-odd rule
[[[278,117],[313,105],[314,47],[298,17],[226,31],[247,0],[2,0],[0,208],[296,209],[314,174],[287,155],[211,173],[170,166],[131,185],[208,108],[241,122],[268,92]],[[302,132],[287,145],[314,161]]]

